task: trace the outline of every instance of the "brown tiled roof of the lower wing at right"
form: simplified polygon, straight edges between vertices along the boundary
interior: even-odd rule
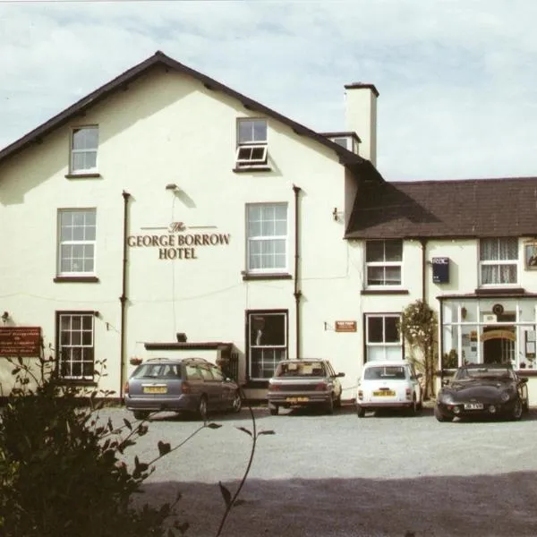
[[[345,238],[537,236],[537,177],[364,182]]]

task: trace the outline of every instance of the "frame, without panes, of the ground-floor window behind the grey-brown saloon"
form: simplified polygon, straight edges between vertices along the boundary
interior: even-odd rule
[[[254,317],[277,317],[282,316],[283,317],[283,323],[284,323],[284,342],[280,345],[261,345],[256,344],[255,342],[252,343],[252,329],[253,329],[253,323],[254,323]],[[263,320],[263,322],[266,322]],[[276,366],[278,362],[281,362],[282,360],[287,360],[289,358],[289,311],[288,310],[248,310],[246,311],[246,334],[247,334],[247,349],[248,349],[248,362],[247,362],[247,368],[248,368],[248,377],[249,380],[253,381],[268,381],[274,371],[276,370]],[[261,350],[261,366],[260,370],[264,371],[265,368],[263,367],[264,362],[264,353],[263,351],[272,351],[273,356],[272,358],[268,359],[268,362],[271,361],[273,368],[270,372],[270,375],[259,377],[254,376],[252,374],[252,371],[255,371],[259,369],[257,366],[254,368],[254,361],[253,361],[253,352],[256,349]],[[278,355],[279,354],[279,355]]]

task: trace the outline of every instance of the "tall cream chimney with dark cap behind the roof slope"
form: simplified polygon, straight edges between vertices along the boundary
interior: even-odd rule
[[[362,140],[360,156],[377,166],[377,98],[373,84],[345,84],[345,131],[356,132]]]

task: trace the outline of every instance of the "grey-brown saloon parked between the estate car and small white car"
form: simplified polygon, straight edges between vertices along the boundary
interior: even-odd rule
[[[328,360],[283,360],[268,381],[268,410],[292,406],[319,406],[327,413],[341,405],[341,382],[345,373],[334,371]]]

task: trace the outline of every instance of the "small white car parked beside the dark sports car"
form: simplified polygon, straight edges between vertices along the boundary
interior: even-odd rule
[[[404,408],[413,415],[422,410],[421,377],[408,360],[365,363],[356,394],[358,417],[382,408]]]

